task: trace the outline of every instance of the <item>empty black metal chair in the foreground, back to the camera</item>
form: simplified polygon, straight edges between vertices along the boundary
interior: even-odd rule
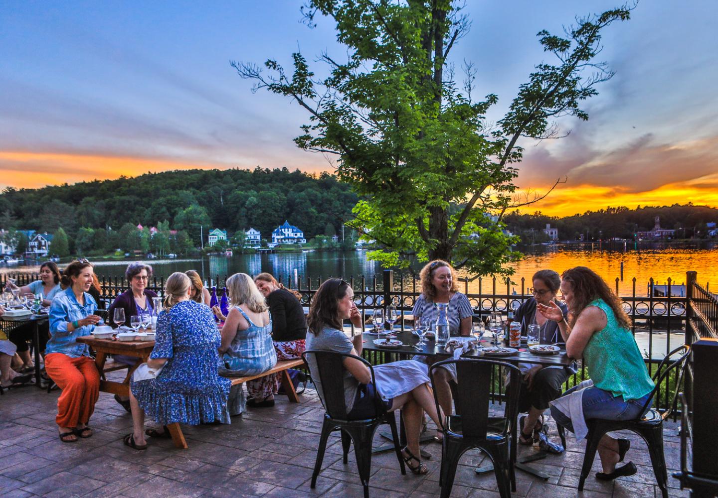
[[[434,385],[434,371],[442,365],[456,365],[458,387],[454,395],[455,414],[444,414],[442,430],[442,467],[439,474],[441,497],[448,498],[454,485],[459,459],[465,451],[480,448],[493,461],[502,498],[516,491],[516,476],[513,469],[513,449],[516,446],[516,415],[518,415],[519,383],[521,370],[505,362],[493,360],[445,360],[429,369],[434,386],[434,402],[439,410],[439,399]],[[503,417],[489,416],[490,391],[494,367],[504,367],[510,372]],[[503,378],[503,377],[498,377]]]

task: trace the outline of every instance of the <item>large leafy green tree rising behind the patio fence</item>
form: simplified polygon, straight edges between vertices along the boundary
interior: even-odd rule
[[[363,197],[351,222],[382,249],[370,253],[385,266],[442,258],[458,268],[510,273],[516,238],[503,230],[514,198],[512,166],[522,137],[557,136],[551,121],[587,119],[579,101],[612,72],[593,59],[601,30],[628,19],[621,8],[579,19],[564,37],[546,31],[539,42],[556,62],[542,62],[521,85],[508,113],[492,126],[485,118],[498,97],[475,100],[475,68],[457,83],[449,55],[470,22],[456,0],[310,0],[307,24],[317,14],[336,24],[347,47],[339,60],[320,55],[328,76],[315,77],[304,55],[292,55],[292,74],[275,60],[269,74],[232,62],[256,88],[294,99],[309,113],[299,147],[336,157],[337,176]],[[536,200],[535,197],[529,200]]]

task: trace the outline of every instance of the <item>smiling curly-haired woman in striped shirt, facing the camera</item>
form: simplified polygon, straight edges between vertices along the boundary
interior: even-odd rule
[[[467,337],[471,334],[471,319],[474,309],[467,296],[459,292],[456,272],[444,260],[433,260],[421,268],[421,295],[414,303],[411,314],[414,322],[426,319],[432,325],[439,317],[437,303],[447,303],[447,319],[449,320],[449,336]],[[424,357],[416,357],[424,361]],[[456,382],[456,365],[439,368],[434,374],[437,386],[437,398],[444,413],[452,413],[452,393],[449,382]]]

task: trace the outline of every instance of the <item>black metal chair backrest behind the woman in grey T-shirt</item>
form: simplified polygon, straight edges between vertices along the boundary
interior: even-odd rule
[[[309,362],[309,358],[312,358],[312,362]],[[347,419],[347,406],[345,403],[345,388],[344,388],[344,359],[353,358],[362,362],[366,365],[371,372],[371,382],[376,385],[374,379],[374,369],[371,364],[356,356],[355,354],[340,353],[336,351],[323,351],[321,349],[307,349],[302,353],[302,360],[307,364],[309,372],[312,374],[312,380],[316,384],[319,382],[321,385],[320,401],[324,405],[324,409],[331,418],[337,420]],[[374,417],[376,418],[380,412],[378,400],[375,397],[376,411]]]

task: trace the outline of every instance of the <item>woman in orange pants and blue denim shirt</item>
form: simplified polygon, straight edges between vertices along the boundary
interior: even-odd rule
[[[97,303],[88,294],[93,273],[87,260],[70,263],[62,273],[65,291],[57,293],[50,306],[52,337],[45,349],[45,370],[62,389],[55,421],[63,443],[92,436],[87,423],[100,394],[100,375],[89,348],[76,340],[89,335],[101,321],[94,314]]]

